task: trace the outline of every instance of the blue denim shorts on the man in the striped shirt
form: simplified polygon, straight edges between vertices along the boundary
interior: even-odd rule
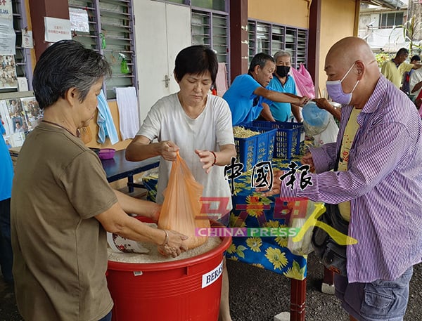
[[[409,299],[413,267],[397,280],[348,283],[347,277],[334,275],[335,296],[343,308],[359,321],[402,321]]]

